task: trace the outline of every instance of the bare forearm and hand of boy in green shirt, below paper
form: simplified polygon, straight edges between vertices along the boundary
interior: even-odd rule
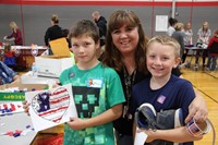
[[[71,118],[68,124],[74,130],[83,130],[90,126],[106,124],[118,119],[121,114],[122,104],[119,104],[111,107],[107,111],[89,119]]]

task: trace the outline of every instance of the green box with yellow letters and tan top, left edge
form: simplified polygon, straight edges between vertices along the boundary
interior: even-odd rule
[[[0,86],[0,101],[21,101],[25,100],[25,93],[7,93],[2,92],[10,87],[19,87],[19,90],[27,89],[27,92],[32,92],[33,89],[41,90],[48,88],[46,84],[5,84]]]

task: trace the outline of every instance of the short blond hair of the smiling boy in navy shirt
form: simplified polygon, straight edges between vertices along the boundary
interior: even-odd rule
[[[152,43],[159,43],[161,45],[171,46],[172,48],[174,48],[175,57],[180,58],[180,44],[174,38],[168,35],[158,35],[148,40],[147,48]]]

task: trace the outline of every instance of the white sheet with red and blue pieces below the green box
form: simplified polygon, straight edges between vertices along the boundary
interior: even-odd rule
[[[3,102],[0,104],[0,114],[8,114],[8,113],[16,113],[23,112],[23,105],[22,101],[11,101],[11,102]]]

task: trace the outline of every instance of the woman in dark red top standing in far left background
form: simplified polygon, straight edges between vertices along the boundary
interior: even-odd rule
[[[23,46],[23,38],[22,38],[22,33],[19,26],[16,25],[15,22],[11,22],[9,24],[12,33],[9,36],[4,36],[3,38],[5,40],[13,40],[15,46]]]

